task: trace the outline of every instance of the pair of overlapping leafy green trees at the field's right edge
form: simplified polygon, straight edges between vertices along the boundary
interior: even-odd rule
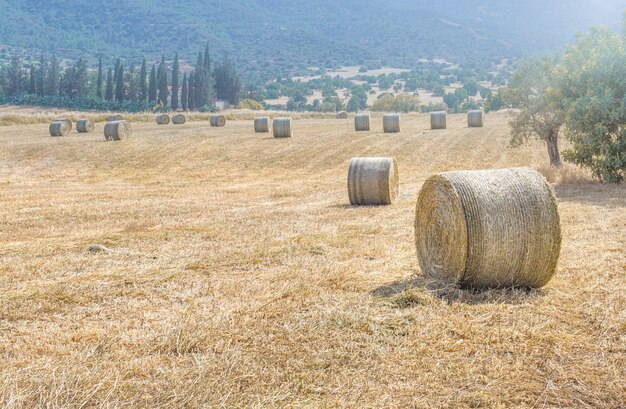
[[[599,179],[626,176],[626,14],[624,33],[608,28],[579,34],[564,53],[522,62],[502,90],[512,108],[512,144],[545,141],[550,163],[561,166],[558,141],[570,142],[566,161]]]

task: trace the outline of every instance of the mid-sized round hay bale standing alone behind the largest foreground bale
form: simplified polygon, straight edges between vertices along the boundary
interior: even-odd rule
[[[392,204],[398,197],[396,158],[352,158],[348,195],[353,205]]]

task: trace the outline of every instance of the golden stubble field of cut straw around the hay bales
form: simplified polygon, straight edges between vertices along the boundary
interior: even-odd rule
[[[422,276],[428,176],[545,169],[506,118],[356,133],[351,120],[0,127],[0,406],[624,406],[626,187],[566,168],[563,250],[538,291]],[[398,203],[348,205],[353,156],[395,156]]]

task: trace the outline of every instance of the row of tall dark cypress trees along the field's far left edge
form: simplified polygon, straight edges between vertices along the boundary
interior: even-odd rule
[[[211,110],[215,99],[237,104],[240,92],[241,82],[232,60],[224,56],[213,67],[208,45],[198,53],[195,66],[185,70],[181,70],[177,53],[171,66],[164,56],[151,67],[145,58],[140,65],[128,66],[118,59],[106,72],[102,58],[97,69],[90,69],[83,58],[63,67],[55,56],[50,60],[42,56],[25,68],[22,58],[14,55],[9,66],[0,71],[0,96],[33,103],[39,100],[44,105],[71,101],[75,108],[81,108],[81,103],[84,108],[93,108],[100,101],[101,109]]]

